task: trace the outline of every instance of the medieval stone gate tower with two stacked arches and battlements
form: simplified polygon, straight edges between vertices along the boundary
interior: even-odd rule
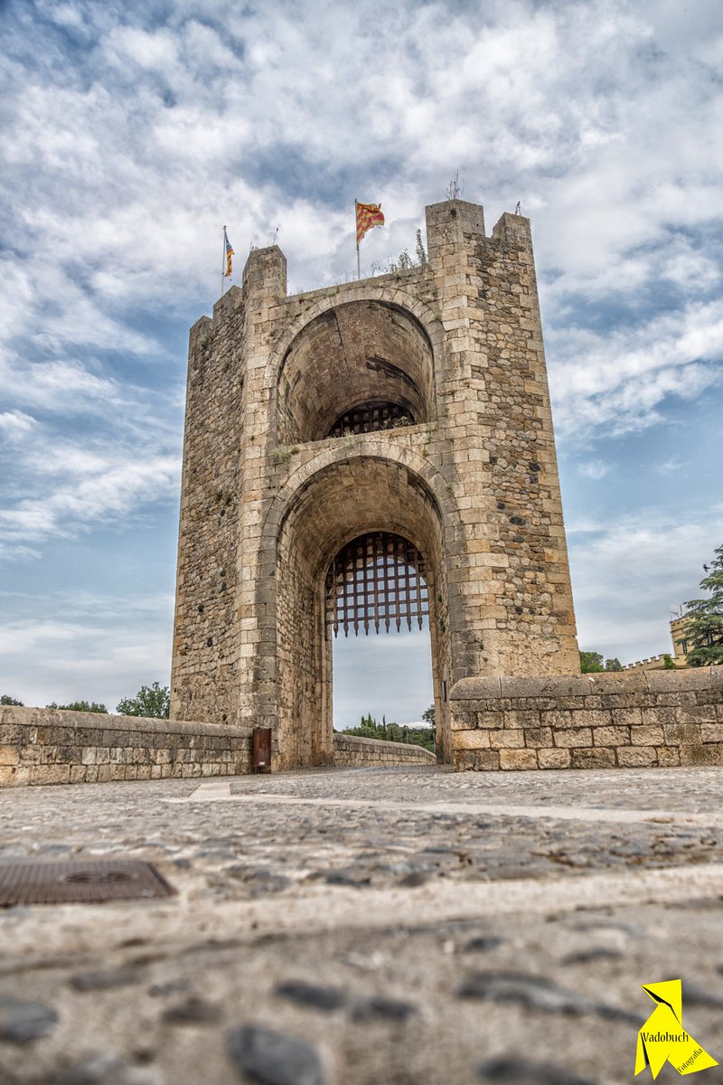
[[[444,760],[459,679],[579,672],[529,221],[426,216],[427,265],[308,294],[255,250],[191,331],[171,716],[280,768],[333,762],[335,623],[428,610]]]

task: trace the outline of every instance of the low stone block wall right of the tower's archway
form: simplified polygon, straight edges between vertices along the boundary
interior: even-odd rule
[[[456,769],[723,765],[723,667],[463,678]]]

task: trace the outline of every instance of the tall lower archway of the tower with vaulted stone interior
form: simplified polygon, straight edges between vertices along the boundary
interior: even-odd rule
[[[373,546],[374,539],[392,548],[389,575],[372,549],[360,556],[359,575],[345,579],[352,572],[354,548]],[[359,450],[334,458],[291,498],[276,534],[273,575],[279,767],[333,762],[335,622],[384,626],[388,616],[396,626],[397,618],[406,622],[408,615],[416,621],[419,611],[429,623],[438,752],[449,760],[446,693],[451,650],[443,523],[437,498],[421,474],[378,452]],[[403,592],[400,582],[409,585]],[[382,583],[389,585],[384,607]]]

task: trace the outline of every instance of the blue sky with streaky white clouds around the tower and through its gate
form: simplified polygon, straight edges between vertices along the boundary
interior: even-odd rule
[[[0,692],[168,681],[222,226],[234,281],[279,228],[313,290],[354,197],[369,271],[457,171],[488,230],[532,221],[581,647],[669,650],[723,542],[720,0],[0,0]],[[363,648],[337,724],[418,718],[428,643]]]

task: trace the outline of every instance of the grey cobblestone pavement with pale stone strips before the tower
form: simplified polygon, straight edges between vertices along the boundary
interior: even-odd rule
[[[143,859],[177,890],[0,911],[0,1083],[621,1085],[640,985],[679,976],[721,1059],[722,783],[421,767],[0,792],[0,863]]]

